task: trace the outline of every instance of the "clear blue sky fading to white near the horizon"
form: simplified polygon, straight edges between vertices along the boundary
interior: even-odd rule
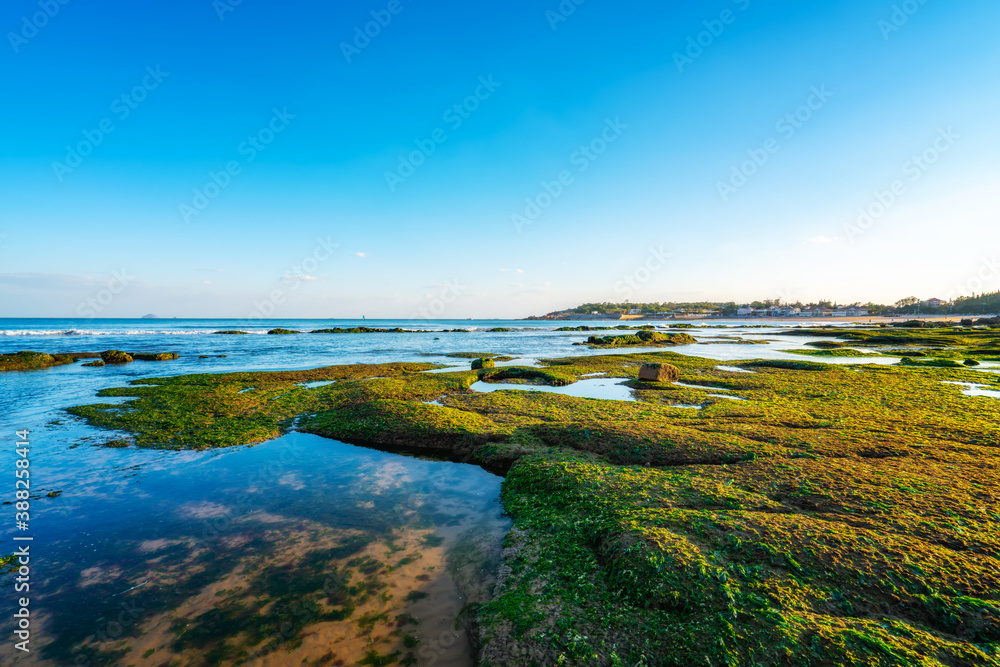
[[[1000,289],[995,0],[577,1],[8,0],[0,316]]]

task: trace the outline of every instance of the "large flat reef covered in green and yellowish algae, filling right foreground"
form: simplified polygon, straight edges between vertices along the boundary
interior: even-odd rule
[[[932,359],[1000,347],[995,331],[829,335]],[[640,380],[650,363],[680,381]],[[1000,664],[1000,401],[947,384],[1000,376],[717,363],[656,351],[190,375],[71,412],[139,447],[296,428],[504,472],[513,529],[476,611],[484,665]],[[596,374],[637,400],[470,389]],[[333,382],[302,386],[315,380]]]

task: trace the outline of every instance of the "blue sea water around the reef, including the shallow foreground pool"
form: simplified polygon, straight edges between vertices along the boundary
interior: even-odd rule
[[[180,355],[0,373],[8,445],[0,453],[0,479],[8,480],[0,484],[0,502],[14,500],[14,434],[27,429],[30,530],[20,534],[34,538],[33,651],[19,653],[4,642],[0,663],[228,665],[249,656],[260,665],[355,664],[369,651],[398,651],[398,659],[415,661],[410,664],[472,664],[463,609],[488,589],[509,526],[497,500],[498,477],[466,464],[296,433],[211,452],[105,449],[94,445],[106,433],[64,410],[98,402],[102,388],[144,377],[390,361],[468,368],[468,359],[447,356],[456,352],[505,354],[523,365],[606,353],[575,345],[587,332],[555,331],[577,324],[617,323],[0,320],[0,352]],[[783,350],[817,340],[782,336],[782,328],[710,324],[687,330],[697,344],[671,349],[720,364],[802,360]],[[354,326],[419,331],[266,335],[276,327]],[[249,335],[212,333],[226,329]],[[627,398],[615,381],[592,384],[618,392],[608,398]],[[0,505],[0,521],[4,555],[15,548],[13,504]],[[11,575],[0,583],[6,584],[0,594],[13,600]]]

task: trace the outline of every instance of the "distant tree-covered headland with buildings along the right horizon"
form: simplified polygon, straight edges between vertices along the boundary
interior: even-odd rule
[[[952,300],[911,296],[892,305],[838,304],[835,301],[785,303],[779,299],[738,304],[727,302],[585,303],[576,308],[533,315],[526,320],[692,319],[712,317],[904,317],[915,315],[988,315],[1000,312],[1000,291]]]

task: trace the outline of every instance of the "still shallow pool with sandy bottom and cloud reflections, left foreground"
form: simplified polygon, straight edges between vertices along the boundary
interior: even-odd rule
[[[298,433],[141,474],[75,530],[39,530],[42,645],[0,662],[473,664],[499,477]]]

